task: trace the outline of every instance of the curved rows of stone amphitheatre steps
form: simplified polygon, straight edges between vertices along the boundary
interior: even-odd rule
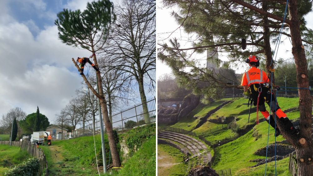
[[[158,133],[158,139],[179,143],[184,152],[188,150],[188,153],[192,153],[192,158],[198,158],[197,165],[208,165],[212,159],[208,148],[193,137],[176,132],[162,131]]]

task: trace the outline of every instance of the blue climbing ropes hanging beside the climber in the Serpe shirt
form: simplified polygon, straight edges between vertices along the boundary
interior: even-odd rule
[[[281,33],[283,31],[283,28],[284,28],[284,23],[285,23],[285,19],[286,19],[286,14],[287,14],[287,7],[288,7],[288,0],[286,2],[286,7],[285,7],[285,14],[284,14],[284,20],[283,20],[283,23],[281,24],[281,28],[280,28],[280,33],[277,37],[277,42],[276,42],[276,45],[275,45],[275,49],[274,49],[274,53],[273,53],[273,56],[272,56],[272,60],[271,60],[271,64],[273,63],[273,60],[274,60],[274,56],[275,56],[275,61],[276,61],[276,57],[277,57],[277,52],[276,52],[276,49],[278,50],[279,48],[279,44],[280,44],[280,38],[281,38]],[[276,52],[276,55],[275,55],[275,52]],[[273,82],[273,72],[271,72],[271,83]],[[271,95],[273,93],[273,89],[272,89],[272,86],[271,86]],[[277,92],[276,92],[277,94]],[[275,96],[276,96],[275,94]],[[277,99],[276,99],[276,102],[277,102]],[[276,103],[275,102],[275,109],[276,109]],[[271,115],[271,109],[272,109],[272,96],[271,96],[271,101],[270,101],[271,105],[270,105],[270,111],[269,111],[269,115]],[[276,132],[276,113],[275,113],[275,132]],[[269,122],[270,122],[270,118],[269,118]],[[267,151],[268,151],[268,147],[269,147],[269,126],[268,126],[268,134],[267,134],[267,145],[266,145],[266,159],[265,159],[265,173],[264,173],[264,176],[266,176],[266,167],[267,167]],[[275,176],[276,176],[276,137],[275,137]]]

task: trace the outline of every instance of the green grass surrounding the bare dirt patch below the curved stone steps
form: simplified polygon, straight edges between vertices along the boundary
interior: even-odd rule
[[[171,163],[179,163],[172,166],[169,166],[165,169],[162,169],[162,172],[159,170],[160,167],[158,167],[158,174],[159,175],[168,175],[168,176],[174,176],[174,175],[187,175],[186,165],[182,163],[183,154],[176,148],[173,148],[168,145],[159,144],[157,146],[157,152],[158,156],[167,156],[169,158],[163,158],[158,159],[158,163],[164,161],[166,159],[167,161]]]

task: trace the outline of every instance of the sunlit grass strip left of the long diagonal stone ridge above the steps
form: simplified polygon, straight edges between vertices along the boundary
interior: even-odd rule
[[[193,111],[191,111],[186,117],[183,117],[179,122],[172,125],[172,127],[176,128],[182,128],[185,130],[191,130],[193,127],[195,127],[199,119],[203,116],[205,116],[209,111],[215,109],[217,106],[221,105],[222,102],[224,102],[225,99],[213,102],[212,104],[209,104],[207,106],[202,107],[201,105],[198,105]],[[198,116],[198,118],[194,118]],[[190,125],[190,127],[188,127]]]

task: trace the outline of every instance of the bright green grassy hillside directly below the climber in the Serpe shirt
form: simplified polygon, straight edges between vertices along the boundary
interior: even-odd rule
[[[280,107],[282,108],[282,110],[298,106],[297,98],[278,98],[278,102],[280,103]],[[243,108],[247,108],[247,106]],[[244,110],[242,108],[240,109],[241,111]],[[269,108],[267,107],[267,109]],[[237,110],[237,112],[241,112],[241,111]],[[256,112],[255,110],[254,111],[252,110],[251,112],[254,112],[254,113],[251,113],[250,115],[249,124],[255,124]],[[290,119],[296,119],[299,117],[299,111],[289,112],[287,113],[287,116]],[[259,113],[259,118],[264,118],[261,113]],[[237,124],[240,127],[243,127],[244,125],[247,124],[248,114],[239,115],[238,119],[239,120],[237,121]],[[255,138],[252,137],[253,130],[251,130],[250,132],[248,132],[242,137],[239,137],[235,141],[229,142],[228,144],[225,144],[217,148],[217,158],[222,158],[222,159],[217,159],[213,168],[217,170],[231,168],[233,173],[238,172],[236,173],[236,175],[261,175],[262,172],[264,174],[265,165],[261,165],[256,168],[248,168],[248,167],[253,166],[255,164],[253,162],[249,162],[249,160],[256,159],[256,158],[265,158],[261,156],[255,156],[253,153],[257,149],[266,146],[268,123],[262,122],[259,125],[256,125],[254,128],[259,134],[262,135],[261,138],[255,141]],[[220,133],[223,134],[226,132],[224,131]],[[274,134],[274,129],[270,127],[269,143],[274,143],[275,138],[273,134]],[[276,141],[282,141],[282,140],[283,140],[282,136],[279,136],[276,138]],[[274,165],[274,163],[273,162],[269,163],[268,169],[270,172],[273,172],[275,168],[271,165]],[[278,175],[285,175],[286,170],[288,170],[288,159],[278,161],[277,165],[278,165],[277,167]]]

